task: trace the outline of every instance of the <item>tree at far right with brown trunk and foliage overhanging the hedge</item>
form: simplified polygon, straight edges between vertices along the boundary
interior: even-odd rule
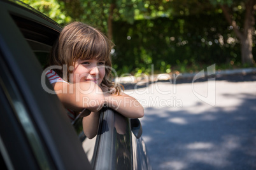
[[[210,1],[210,2],[209,2]],[[198,15],[221,11],[241,45],[241,61],[253,65],[256,0],[148,0],[148,10],[164,11],[166,16]],[[152,14],[151,14],[152,15]]]

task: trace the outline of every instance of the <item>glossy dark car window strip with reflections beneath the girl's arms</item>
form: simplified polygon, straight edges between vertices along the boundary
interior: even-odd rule
[[[131,125],[129,119],[111,108],[101,112],[94,169],[132,169]],[[94,160],[95,159],[95,160]],[[136,167],[134,167],[136,169]]]

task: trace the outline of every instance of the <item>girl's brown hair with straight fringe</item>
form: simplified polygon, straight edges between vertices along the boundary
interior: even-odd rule
[[[105,71],[101,86],[106,86],[109,91],[120,95],[120,85],[110,81],[111,78],[111,58],[110,51],[114,44],[103,33],[94,27],[82,22],[69,23],[64,27],[57,42],[53,45],[50,53],[49,65],[66,65],[68,68],[67,76],[63,75],[62,70],[53,69],[64,81],[69,82],[69,74],[72,73],[71,66],[75,66],[75,61],[81,60],[103,60]],[[112,90],[111,90],[112,89]]]

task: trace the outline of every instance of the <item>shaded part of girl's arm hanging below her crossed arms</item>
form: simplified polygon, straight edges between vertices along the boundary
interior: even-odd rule
[[[97,134],[100,112],[91,112],[90,115],[83,117],[83,133],[87,138],[92,139]]]

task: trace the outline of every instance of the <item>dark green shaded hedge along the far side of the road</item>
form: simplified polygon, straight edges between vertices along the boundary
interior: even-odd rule
[[[151,73],[152,64],[157,73],[241,63],[239,41],[221,13],[115,22],[113,32],[118,74]]]

